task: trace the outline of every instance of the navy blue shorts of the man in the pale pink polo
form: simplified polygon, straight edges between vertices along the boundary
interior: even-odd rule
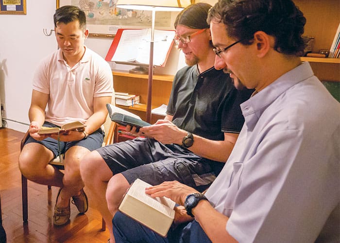
[[[52,124],[51,122],[45,121],[43,126],[46,127],[60,127],[57,125]],[[104,132],[101,128],[99,128],[94,133],[91,133],[86,139],[82,139],[79,141],[72,141],[72,142],[63,142],[60,141],[60,152],[61,154],[65,154],[66,151],[72,146],[82,146],[84,148],[87,148],[89,151],[93,151],[95,149],[98,149],[102,147],[102,142],[104,140]],[[51,150],[54,154],[54,157],[59,156],[59,146],[58,146],[58,140],[52,139],[52,138],[46,138],[44,140],[38,141],[33,139],[32,137],[29,137],[25,145],[27,143],[36,142],[44,145],[46,148]]]

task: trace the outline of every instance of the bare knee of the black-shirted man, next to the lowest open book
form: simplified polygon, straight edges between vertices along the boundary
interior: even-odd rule
[[[130,184],[122,174],[114,175],[106,189],[106,202],[109,211],[114,215],[119,207],[121,197],[124,195]]]

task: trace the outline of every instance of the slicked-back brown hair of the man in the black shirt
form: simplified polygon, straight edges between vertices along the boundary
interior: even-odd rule
[[[183,25],[191,29],[210,28],[210,24],[206,22],[210,8],[211,5],[208,3],[190,4],[177,15],[174,23],[175,29],[177,25]]]

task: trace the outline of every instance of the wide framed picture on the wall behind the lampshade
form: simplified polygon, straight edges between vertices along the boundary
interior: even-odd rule
[[[151,11],[121,9],[117,0],[56,0],[56,7],[74,5],[86,14],[90,36],[114,37],[118,29],[151,28]],[[156,12],[155,28],[173,30],[178,12]]]

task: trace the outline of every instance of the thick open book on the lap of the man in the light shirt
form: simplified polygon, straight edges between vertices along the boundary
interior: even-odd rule
[[[175,216],[175,202],[167,197],[151,197],[145,188],[151,185],[136,179],[123,196],[119,211],[165,237]]]

